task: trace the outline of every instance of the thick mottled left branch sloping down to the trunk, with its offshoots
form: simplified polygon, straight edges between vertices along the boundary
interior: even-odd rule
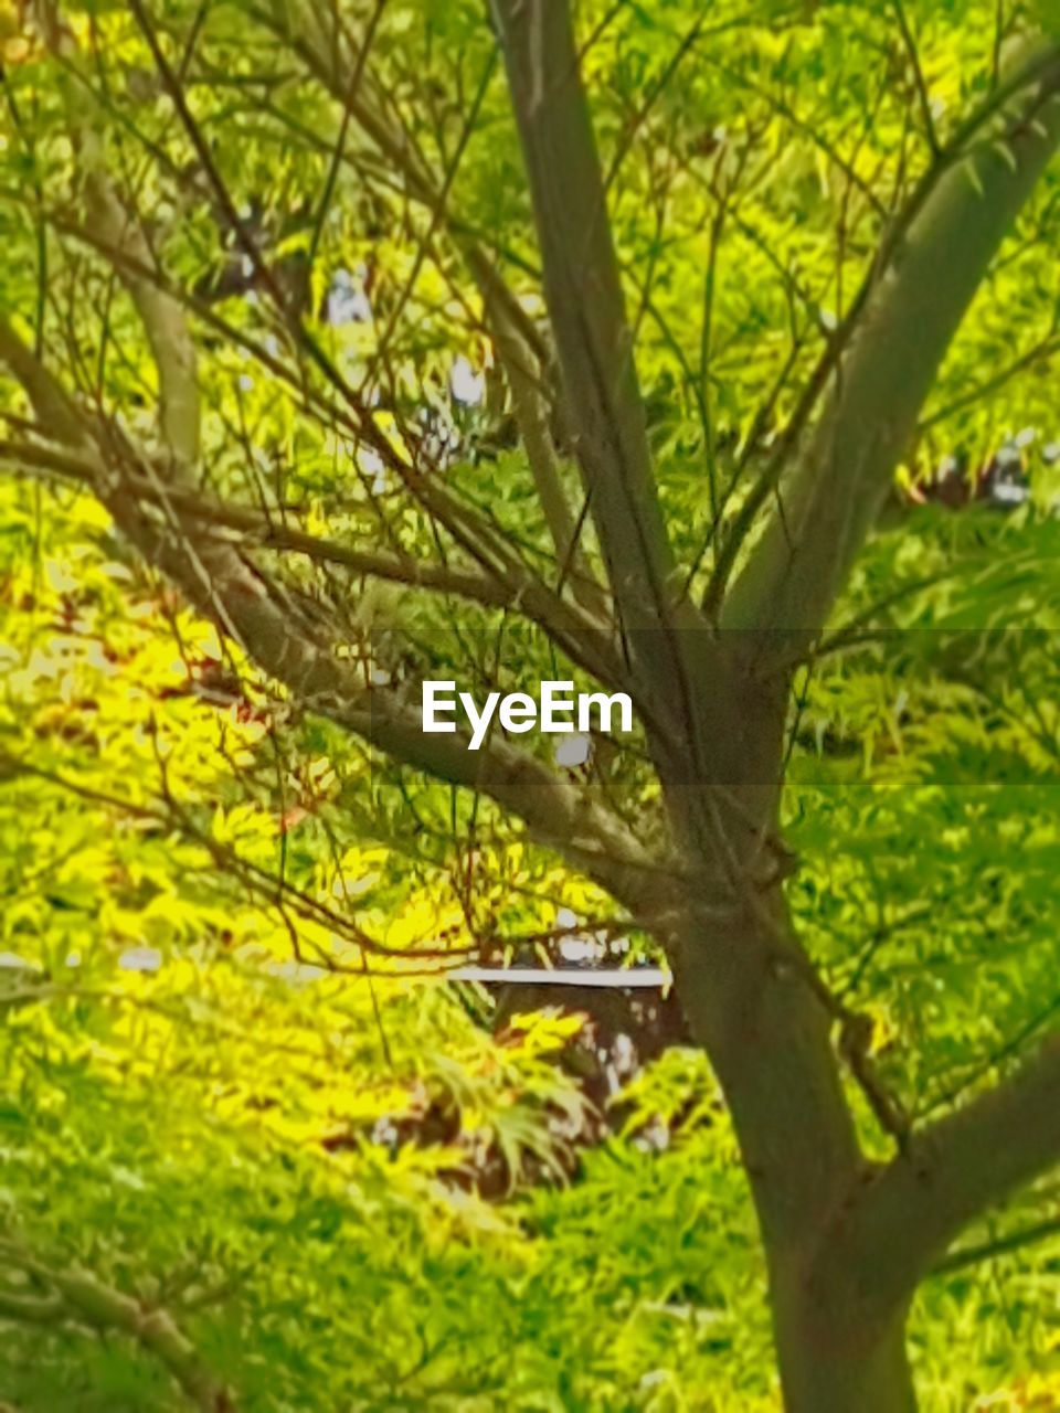
[[[55,10],[49,10],[49,41],[62,48],[66,35]],[[191,116],[185,113],[191,122]],[[129,290],[144,325],[154,355],[163,417],[160,432],[164,456],[146,456],[112,424],[89,418],[62,386],[27,348],[16,329],[0,322],[0,360],[25,390],[37,414],[37,434],[51,448],[40,449],[34,441],[20,448],[23,458],[45,463],[92,483],[112,512],[116,524],[140,554],[165,574],[188,599],[213,617],[269,675],[287,685],[300,704],[329,716],[358,732],[384,752],[437,779],[465,786],[495,798],[522,818],[536,838],[567,852],[579,868],[587,868],[606,885],[629,893],[630,879],[639,870],[650,875],[647,853],[625,827],[599,804],[582,800],[581,793],[536,757],[493,740],[471,753],[462,735],[425,736],[418,709],[397,692],[367,687],[356,668],[334,651],[326,630],[297,612],[284,589],[271,582],[230,538],[218,534],[218,524],[233,521],[239,528],[269,530],[288,537],[302,552],[321,551],[310,537],[295,531],[273,531],[261,523],[252,527],[237,509],[206,506],[192,476],[192,461],[199,438],[199,401],[194,343],[187,309],[172,297],[167,281],[155,276],[155,261],[146,249],[139,227],[119,201],[99,160],[90,120],[72,110],[71,122],[82,151],[90,158],[89,199],[103,225],[100,243],[113,254],[113,270]],[[179,356],[174,356],[174,349]],[[363,408],[356,406],[359,413]],[[365,413],[367,417],[367,414]],[[369,430],[373,427],[367,418]],[[380,441],[389,458],[394,452]],[[59,455],[54,454],[58,447]],[[37,448],[37,449],[35,449]],[[408,465],[403,473],[420,489],[428,509],[458,536],[468,538],[479,530],[472,517],[449,503],[442,487],[427,485]],[[441,502],[441,503],[440,503]],[[219,510],[213,519],[206,510]],[[449,512],[452,512],[449,514]],[[464,534],[461,534],[464,531]],[[293,538],[291,538],[293,537]],[[544,591],[538,581],[517,561],[514,552],[488,527],[482,530],[488,551],[496,548],[497,560],[482,558],[493,571],[473,584],[452,578],[441,568],[428,567],[420,584],[455,591],[475,589],[482,599],[496,591],[497,598],[513,603],[531,601],[546,592],[550,612],[560,605],[577,617],[577,610],[561,605],[557,595]],[[476,541],[476,548],[478,548]],[[346,560],[342,547],[328,545]],[[410,571],[404,561],[360,558],[351,565],[384,571],[391,578]],[[416,575],[408,572],[416,582]],[[555,626],[555,625],[554,625]],[[606,671],[603,673],[606,680]]]

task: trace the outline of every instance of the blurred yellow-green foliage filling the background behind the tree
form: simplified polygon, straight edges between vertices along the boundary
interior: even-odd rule
[[[351,24],[362,8],[343,6]],[[430,442],[457,493],[544,554],[459,267],[473,235],[540,314],[481,7],[380,11],[382,110],[416,140],[404,171],[346,130],[278,37],[297,10],[199,18],[167,0],[155,20],[171,47],[201,27],[196,114],[321,346],[366,379],[396,438]],[[382,524],[416,554],[425,519],[326,406],[305,415],[302,370],[126,7],[66,13],[86,58],[59,73],[23,7],[0,7],[0,302],[35,309],[27,336],[150,432],[141,329],[78,229],[68,105],[90,92],[112,170],[199,301],[211,483],[339,538]],[[1030,17],[985,0],[909,0],[905,16],[926,105],[886,6],[581,6],[661,493],[697,572],[889,213]],[[444,240],[418,164],[461,213]],[[965,322],[791,715],[793,903],[919,1116],[1060,1010],[1060,425],[1043,376],[1060,349],[1059,196],[1054,171]],[[17,418],[17,394],[3,400]],[[981,492],[1005,448],[1026,493],[1002,509]],[[540,642],[492,612],[462,605],[454,622],[416,592],[355,601],[352,582],[307,568],[302,584],[348,615],[352,653],[400,626],[394,673],[407,653],[512,684],[551,675]],[[591,786],[650,829],[636,749],[601,762],[596,746]],[[239,1410],[777,1406],[753,1219],[698,1054],[671,1046],[592,1087],[571,1058],[592,1017],[509,999],[497,1020],[493,995],[440,975],[596,938],[620,923],[608,900],[485,803],[300,716],[93,502],[14,478],[0,844],[11,1406],[187,1406],[114,1294],[165,1310]],[[987,1260],[927,1283],[913,1338],[929,1407],[1060,1409],[1054,1232],[1047,1183],[970,1234]]]

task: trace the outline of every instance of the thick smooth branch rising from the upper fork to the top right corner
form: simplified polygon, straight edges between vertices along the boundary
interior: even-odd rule
[[[729,591],[726,627],[824,626],[950,342],[1059,143],[1060,49],[1039,47],[899,220],[830,369],[830,400]]]

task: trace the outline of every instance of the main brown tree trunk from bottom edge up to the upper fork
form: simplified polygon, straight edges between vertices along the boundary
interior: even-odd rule
[[[688,876],[669,934],[657,935],[739,1142],[786,1413],[916,1413],[907,1293],[878,1286],[872,1263],[856,1245],[848,1251],[851,1217],[876,1173],[844,1091],[840,1017],[784,896],[779,780],[790,684],[756,675],[758,647],[729,639],[718,653],[698,752],[674,769],[660,747]]]

